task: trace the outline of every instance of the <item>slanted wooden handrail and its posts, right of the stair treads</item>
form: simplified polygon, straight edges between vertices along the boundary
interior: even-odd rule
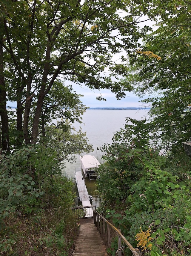
[[[127,241],[127,239],[121,234],[121,232],[115,228],[109,221],[107,221],[103,216],[101,216],[98,212],[93,210],[94,215],[94,224],[96,225],[100,236],[103,237],[105,234],[105,223],[107,223],[107,238],[108,238],[108,247],[111,247],[111,241],[110,241],[110,229],[109,226],[115,230],[115,232],[118,234],[118,256],[121,256],[121,239],[124,241],[124,243],[127,245],[127,247],[131,250],[134,256],[139,256],[137,250],[133,248],[133,246]],[[102,230],[102,222],[103,222],[103,230]],[[104,237],[103,237],[104,238]],[[104,239],[105,240],[105,239]]]

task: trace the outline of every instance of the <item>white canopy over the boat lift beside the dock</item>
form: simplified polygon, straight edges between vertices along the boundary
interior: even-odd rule
[[[95,168],[98,168],[100,162],[96,159],[95,156],[85,155],[80,157],[81,168],[85,172],[94,171]]]

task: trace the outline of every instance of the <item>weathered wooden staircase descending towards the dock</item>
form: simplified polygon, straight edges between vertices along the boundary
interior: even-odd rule
[[[107,256],[106,247],[93,223],[93,218],[80,221],[73,256]]]

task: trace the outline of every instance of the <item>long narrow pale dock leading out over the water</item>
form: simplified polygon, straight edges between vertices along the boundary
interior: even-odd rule
[[[87,192],[87,188],[84,182],[84,178],[81,174],[81,171],[75,171],[75,179],[76,179],[76,185],[78,188],[78,194],[80,197],[80,201],[82,203],[82,206],[91,206],[90,204],[90,198],[89,198],[89,194]],[[86,217],[87,217],[87,213],[86,213]],[[89,213],[88,213],[88,217],[93,217],[93,210],[90,209]]]

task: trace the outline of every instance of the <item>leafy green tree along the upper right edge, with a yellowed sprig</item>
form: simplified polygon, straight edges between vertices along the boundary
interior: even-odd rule
[[[165,13],[159,12],[157,30],[146,35],[142,49],[130,56],[125,79],[139,96],[150,95],[143,102],[151,104],[155,126],[168,145],[178,147],[191,139],[190,10],[190,1],[172,1]]]

